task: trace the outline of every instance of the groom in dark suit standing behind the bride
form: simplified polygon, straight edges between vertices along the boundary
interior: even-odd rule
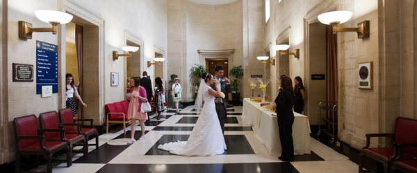
[[[219,89],[224,93],[227,94],[227,92],[231,92],[231,86],[230,86],[230,80],[226,79],[223,80],[223,73],[224,73],[224,69],[222,66],[216,66],[214,69],[214,78],[215,80],[218,80],[220,82],[218,82],[219,85]],[[216,91],[216,87],[215,84],[211,85],[211,88],[214,89],[214,91]],[[226,115],[226,102],[227,100],[224,100],[224,98],[219,97],[219,98],[215,98],[214,100],[215,102],[215,111],[218,113],[218,117],[219,117],[219,121],[220,121],[220,126],[222,127],[222,131],[224,134],[224,120],[226,120],[227,115]]]

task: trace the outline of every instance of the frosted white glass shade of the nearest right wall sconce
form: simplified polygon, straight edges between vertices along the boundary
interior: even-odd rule
[[[318,20],[322,24],[331,24],[331,23],[338,23],[342,24],[345,23],[352,17],[353,12],[350,11],[332,11],[332,12],[325,12],[321,15],[318,15]]]

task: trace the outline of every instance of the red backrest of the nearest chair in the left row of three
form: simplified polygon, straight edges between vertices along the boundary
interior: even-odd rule
[[[16,126],[16,133],[17,136],[38,136],[38,126],[36,123],[36,116],[26,116],[24,118],[16,118],[15,119],[15,126]],[[19,140],[19,149],[23,149],[28,145],[39,143],[37,139],[21,139]]]

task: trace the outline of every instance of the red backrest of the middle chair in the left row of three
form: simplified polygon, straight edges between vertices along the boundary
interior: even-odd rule
[[[58,113],[56,113],[56,111],[40,113],[40,122],[42,124],[42,129],[60,129],[58,127]],[[56,136],[59,138],[58,131],[44,133],[45,140],[49,140],[49,138]]]

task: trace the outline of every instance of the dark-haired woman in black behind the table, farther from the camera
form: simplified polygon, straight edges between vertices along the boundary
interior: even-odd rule
[[[304,111],[304,101],[306,100],[306,90],[302,84],[300,76],[294,78],[294,111],[302,114]]]

